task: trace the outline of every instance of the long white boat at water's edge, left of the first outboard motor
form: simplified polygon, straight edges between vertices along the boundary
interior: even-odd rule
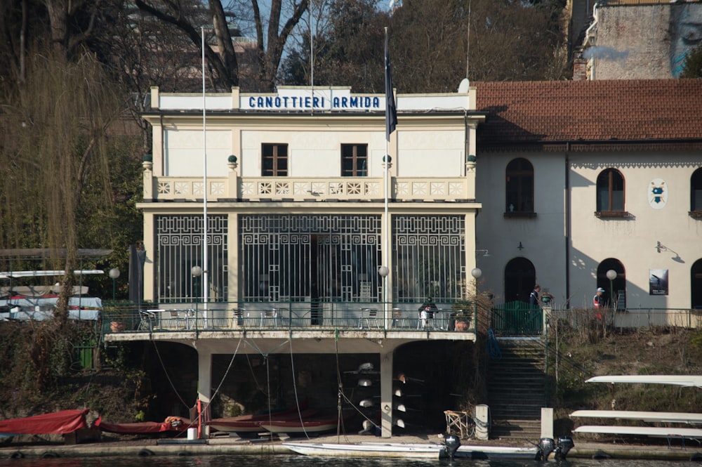
[[[334,444],[332,442],[284,442],[283,446],[305,456],[395,457],[404,459],[439,459],[444,445],[361,442]]]

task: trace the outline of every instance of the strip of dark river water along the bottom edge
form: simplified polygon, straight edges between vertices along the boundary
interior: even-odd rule
[[[665,449],[665,448],[663,448]],[[349,459],[300,455],[213,455],[99,457],[85,459],[0,459],[0,467],[677,467],[682,461],[568,459],[536,461],[472,461],[468,459]],[[684,465],[698,463],[684,462]]]

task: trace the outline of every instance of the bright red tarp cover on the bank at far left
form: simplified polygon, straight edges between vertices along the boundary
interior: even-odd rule
[[[27,416],[24,419],[0,420],[0,433],[13,435],[65,435],[78,428],[88,428],[88,409],[62,410],[53,414]]]

